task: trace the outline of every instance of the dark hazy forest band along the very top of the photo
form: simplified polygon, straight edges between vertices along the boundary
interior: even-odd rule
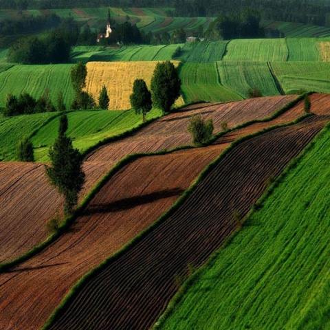
[[[1,0],[5,9],[91,8],[95,6],[166,7],[168,14],[183,17],[215,17],[246,8],[261,12],[261,19],[330,25],[326,0]]]

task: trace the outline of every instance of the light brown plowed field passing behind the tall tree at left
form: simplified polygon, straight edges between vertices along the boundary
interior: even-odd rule
[[[190,144],[186,126],[192,113],[213,118],[215,131],[220,131],[222,121],[234,126],[266,118],[294,98],[296,96],[276,96],[226,104],[195,104],[161,118],[132,137],[99,148],[87,158],[84,166],[87,183],[80,200],[122,157]],[[0,221],[0,262],[5,262],[45,239],[45,223],[61,210],[63,203],[47,184],[43,166],[39,164],[0,162],[0,198],[5,201],[0,209],[0,219],[3,219]]]

